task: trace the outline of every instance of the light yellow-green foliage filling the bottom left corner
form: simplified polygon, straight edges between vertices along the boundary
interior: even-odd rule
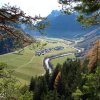
[[[12,76],[10,66],[0,63],[0,100],[32,100],[32,93],[27,85]]]

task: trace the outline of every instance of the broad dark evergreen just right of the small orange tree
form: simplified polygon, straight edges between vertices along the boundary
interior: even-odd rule
[[[72,93],[80,84],[80,76],[81,71],[79,61],[64,62],[61,71],[61,84],[64,89],[63,94],[66,96],[66,98],[71,99]]]

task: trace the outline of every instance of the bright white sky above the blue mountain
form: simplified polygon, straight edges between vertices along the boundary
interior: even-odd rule
[[[20,7],[27,15],[46,17],[52,10],[60,10],[58,0],[0,0],[0,7],[5,3]]]

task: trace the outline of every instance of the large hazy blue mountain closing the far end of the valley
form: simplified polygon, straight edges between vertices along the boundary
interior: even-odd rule
[[[76,38],[98,27],[83,28],[82,25],[76,21],[77,16],[77,13],[65,15],[60,11],[53,10],[51,14],[47,16],[47,21],[50,22],[50,26],[44,30],[46,33],[45,36],[55,38]],[[40,35],[38,31],[30,32],[30,34]]]

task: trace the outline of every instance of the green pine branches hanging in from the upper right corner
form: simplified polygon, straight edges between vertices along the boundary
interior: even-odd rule
[[[64,13],[79,12],[77,20],[84,26],[100,25],[100,0],[59,0]]]

